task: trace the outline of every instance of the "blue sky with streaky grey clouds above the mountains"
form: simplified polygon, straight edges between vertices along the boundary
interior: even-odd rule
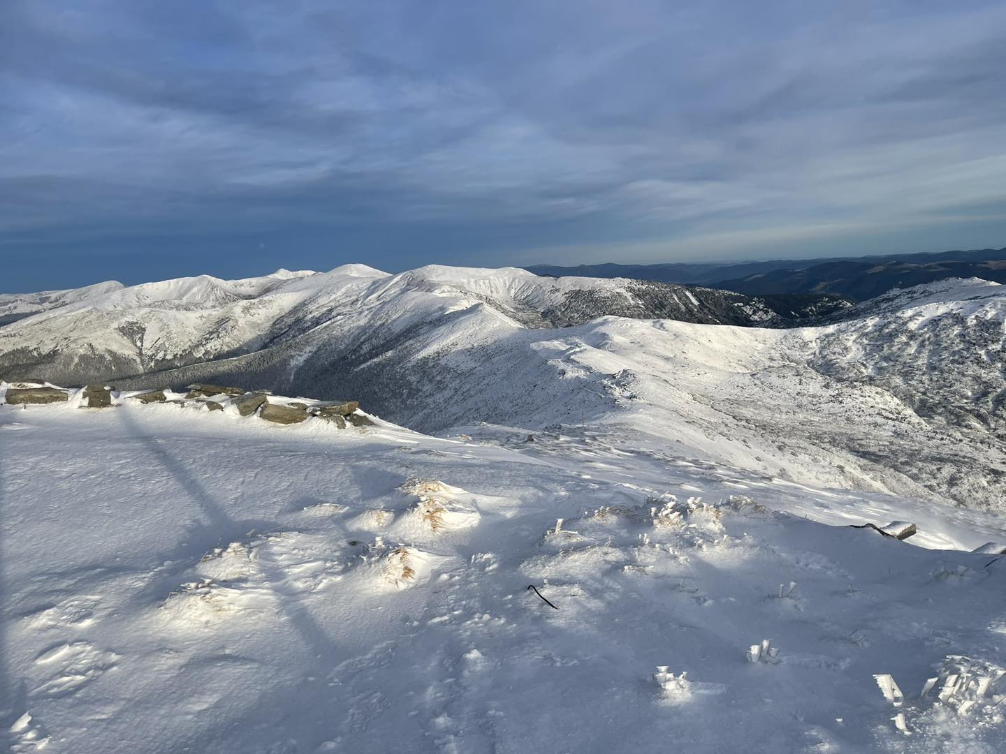
[[[1004,38],[1001,0],[3,0],[0,291],[1004,246]]]

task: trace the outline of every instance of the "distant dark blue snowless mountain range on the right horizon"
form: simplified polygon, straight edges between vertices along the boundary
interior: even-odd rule
[[[736,263],[534,264],[526,269],[551,276],[631,277],[707,286],[752,296],[832,294],[859,302],[892,289],[950,277],[1006,282],[1006,248]]]

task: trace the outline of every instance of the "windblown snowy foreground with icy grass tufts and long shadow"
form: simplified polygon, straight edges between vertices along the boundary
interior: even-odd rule
[[[1006,750],[1000,517],[461,431],[0,406],[14,750]]]

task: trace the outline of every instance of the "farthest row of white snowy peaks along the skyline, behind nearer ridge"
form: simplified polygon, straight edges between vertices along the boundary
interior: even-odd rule
[[[369,341],[484,306],[525,327],[577,325],[602,315],[699,323],[773,324],[843,307],[821,298],[773,300],[682,286],[538,277],[517,269],[428,266],[389,275],[362,264],[329,272],[208,275],[81,292],[74,302],[0,329],[0,372],[42,371],[64,384],[298,349],[342,335]],[[295,341],[297,341],[295,343]],[[269,358],[269,355],[266,355]]]

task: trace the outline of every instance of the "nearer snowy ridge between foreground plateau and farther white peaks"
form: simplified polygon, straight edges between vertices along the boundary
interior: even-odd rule
[[[381,279],[352,311],[254,354],[121,384],[353,395],[438,432],[603,420],[800,482],[1006,509],[1006,297],[995,284],[945,287],[936,302],[939,292],[916,291],[917,306],[778,330],[614,317],[532,328],[505,313],[511,290],[491,290],[489,306],[425,281]]]

